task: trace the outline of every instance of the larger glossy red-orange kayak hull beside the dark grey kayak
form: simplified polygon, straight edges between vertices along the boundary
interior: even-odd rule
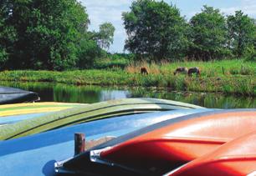
[[[105,149],[100,158],[110,163],[163,173],[211,153],[233,138],[255,130],[256,111],[206,113],[172,123]]]

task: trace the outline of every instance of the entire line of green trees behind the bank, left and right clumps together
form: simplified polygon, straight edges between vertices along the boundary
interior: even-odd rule
[[[0,70],[92,68],[97,58],[255,59],[255,21],[241,11],[224,16],[204,6],[187,22],[175,6],[136,0],[122,18],[131,54],[113,55],[105,52],[113,43],[113,25],[89,31],[86,8],[76,0],[0,1]]]

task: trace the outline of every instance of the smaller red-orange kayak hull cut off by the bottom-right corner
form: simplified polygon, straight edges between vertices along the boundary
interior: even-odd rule
[[[166,175],[256,175],[256,131],[225,143],[214,152]]]

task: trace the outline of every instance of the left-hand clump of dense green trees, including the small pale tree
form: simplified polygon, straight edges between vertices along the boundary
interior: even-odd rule
[[[76,0],[0,1],[0,69],[90,68],[113,43],[115,28],[88,31]]]

